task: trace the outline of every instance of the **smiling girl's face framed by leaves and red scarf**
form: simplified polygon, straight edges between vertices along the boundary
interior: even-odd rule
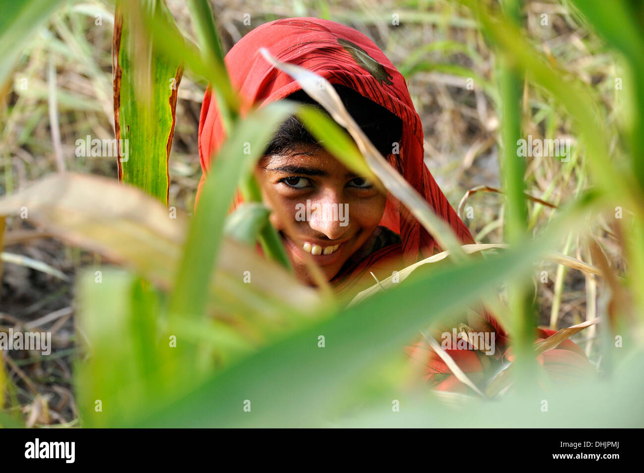
[[[357,176],[325,149],[301,145],[297,151],[265,156],[258,165],[263,201],[279,206],[270,214],[296,276],[314,284],[307,252],[327,280],[373,234],[383,218],[386,195]],[[285,221],[288,219],[289,222]]]

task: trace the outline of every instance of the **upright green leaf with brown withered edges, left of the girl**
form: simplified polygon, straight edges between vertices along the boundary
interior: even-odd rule
[[[156,0],[148,8],[164,12]],[[113,37],[114,120],[118,178],[167,205],[168,158],[175,131],[176,94],[183,66],[162,54],[143,32],[138,10],[117,3]],[[170,27],[173,26],[168,20]]]

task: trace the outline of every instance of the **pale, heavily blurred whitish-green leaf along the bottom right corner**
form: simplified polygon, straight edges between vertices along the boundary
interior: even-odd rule
[[[623,359],[615,376],[601,380],[546,382],[547,390],[525,395],[510,393],[498,402],[486,402],[457,393],[435,393],[429,399],[398,390],[364,400],[350,416],[330,424],[336,428],[431,428],[431,429],[569,429],[641,428],[641,348]],[[402,392],[401,392],[402,391]],[[592,396],[589,396],[592,393]],[[391,399],[400,400],[392,412]],[[548,411],[542,411],[547,400]],[[618,402],[616,402],[618,400]],[[601,406],[601,409],[598,409]],[[535,458],[552,458],[552,452],[536,452]]]

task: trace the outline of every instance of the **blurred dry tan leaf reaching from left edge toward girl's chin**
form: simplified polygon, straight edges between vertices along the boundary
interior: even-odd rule
[[[23,207],[29,219],[72,245],[135,268],[163,288],[173,284],[187,218],[135,187],[88,174],[53,174],[1,198],[0,216],[17,214]],[[262,301],[299,311],[319,302],[314,290],[249,246],[223,239],[220,255],[212,302],[240,304],[260,313],[270,307]],[[251,272],[252,284],[243,283],[245,271]]]

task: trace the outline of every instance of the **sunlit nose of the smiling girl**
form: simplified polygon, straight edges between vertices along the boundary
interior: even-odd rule
[[[348,228],[348,204],[341,202],[340,196],[334,189],[323,189],[310,202],[308,225],[331,240],[342,237]]]

